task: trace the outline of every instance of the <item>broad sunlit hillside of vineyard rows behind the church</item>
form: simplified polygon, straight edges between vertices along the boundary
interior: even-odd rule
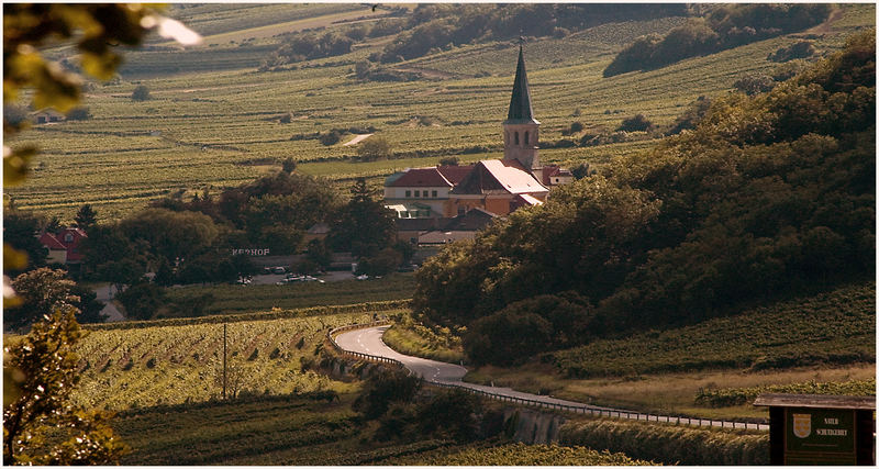
[[[438,70],[432,76],[447,77],[442,79],[359,82],[353,77],[353,66],[379,51],[380,41],[358,44],[344,56],[260,72],[259,62],[279,41],[266,31],[277,26],[272,31],[280,34],[291,29],[291,22],[366,15],[369,9],[252,7],[253,22],[236,26],[243,30],[232,26],[241,12],[231,5],[227,14],[215,20],[200,15],[200,7],[182,11],[183,21],[192,21],[214,40],[191,52],[159,45],[131,52],[120,80],[96,83],[87,92],[91,120],[35,125],[23,133],[18,143],[36,143],[42,152],[27,182],[8,191],[15,204],[70,220],[79,205],[91,203],[99,217],[115,219],[177,189],[219,191],[252,180],[278,168],[287,157],[300,161],[300,171],[344,186],[358,175],[379,183],[393,170],[434,165],[442,155],[477,146],[488,153],[468,154],[465,159],[497,156],[514,71],[514,45],[464,45],[397,65]],[[761,57],[798,41],[798,35],[781,36],[658,70],[602,78],[612,54],[631,37],[665,31],[679,21],[605,25],[564,40],[528,43],[528,78],[534,111],[543,122],[543,141],[561,138],[561,131],[575,121],[587,129],[614,129],[622,119],[644,113],[656,124],[668,124],[699,96],[726,92],[743,75],[770,72],[778,65]],[[832,53],[847,34],[874,21],[874,5],[845,5],[815,44],[822,54]],[[251,30],[253,35],[240,34]],[[180,69],[159,69],[155,64]],[[153,99],[133,102],[130,96],[137,85],[146,85]],[[576,111],[578,116],[572,115]],[[279,118],[287,113],[292,120],[281,123]],[[418,124],[419,116],[430,118],[433,124]],[[387,138],[402,159],[357,164],[351,160],[355,147],[290,139],[367,126],[378,129],[377,135]],[[542,156],[564,165],[600,164],[646,145],[544,149]],[[415,158],[416,152],[426,156]]]

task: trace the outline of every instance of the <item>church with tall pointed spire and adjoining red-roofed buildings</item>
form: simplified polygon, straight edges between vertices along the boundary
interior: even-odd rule
[[[531,105],[523,48],[519,47],[510,109],[503,121],[503,159],[397,172],[385,181],[385,204],[398,219],[452,219],[478,209],[503,216],[539,205],[549,189],[574,180],[569,170],[542,165],[539,126]]]

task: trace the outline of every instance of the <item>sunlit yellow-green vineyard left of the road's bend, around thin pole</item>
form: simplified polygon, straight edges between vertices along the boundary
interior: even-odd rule
[[[353,384],[314,368],[326,332],[370,322],[371,312],[230,322],[227,392],[290,394]],[[110,410],[203,402],[222,395],[223,324],[92,330],[79,342],[81,381],[74,401]]]

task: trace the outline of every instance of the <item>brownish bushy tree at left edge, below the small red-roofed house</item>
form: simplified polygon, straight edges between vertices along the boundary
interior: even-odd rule
[[[3,323],[9,327],[21,327],[51,316],[56,309],[79,302],[79,298],[70,294],[75,284],[66,271],[47,267],[15,277],[12,288],[22,303],[19,308],[3,309]]]

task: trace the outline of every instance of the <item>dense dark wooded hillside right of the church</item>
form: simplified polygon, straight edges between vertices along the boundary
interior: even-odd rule
[[[696,129],[449,246],[415,308],[507,365],[871,278],[875,48],[866,32],[770,92],[714,98]]]

